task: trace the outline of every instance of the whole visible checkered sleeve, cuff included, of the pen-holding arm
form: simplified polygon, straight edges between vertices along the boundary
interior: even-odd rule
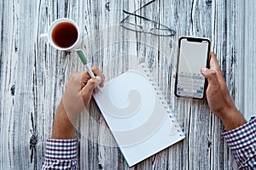
[[[42,169],[77,169],[77,139],[47,139]]]

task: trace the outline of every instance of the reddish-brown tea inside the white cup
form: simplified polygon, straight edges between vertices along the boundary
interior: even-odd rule
[[[52,31],[52,40],[60,48],[71,47],[78,39],[79,33],[75,26],[69,22],[62,22]]]

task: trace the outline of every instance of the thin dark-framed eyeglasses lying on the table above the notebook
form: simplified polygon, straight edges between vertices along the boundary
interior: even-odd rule
[[[153,3],[154,1],[155,0],[150,1],[150,2],[148,2],[146,4],[144,4],[141,8],[144,8],[144,7],[148,6],[148,4]],[[160,23],[155,22],[154,20],[149,20],[146,17],[143,17],[143,16],[140,16],[138,14],[135,14],[141,8],[138,8],[133,13],[129,13],[129,12],[123,10],[123,12],[125,14],[129,14],[129,15],[124,20],[122,20],[120,22],[120,25],[123,28],[125,28],[127,30],[130,30],[130,31],[143,32],[143,33],[148,33],[148,34],[152,34],[152,35],[155,35],[155,36],[171,37],[171,36],[174,36],[176,34],[176,31],[172,30],[171,28],[169,28],[167,26],[161,25]],[[125,20],[127,20],[131,15],[135,16],[137,18],[146,20],[148,22],[151,22],[151,23],[154,24],[154,26],[158,26],[158,27],[149,28],[148,30],[146,30],[148,28],[148,26],[142,26],[142,25],[137,25],[137,24],[133,24],[133,23],[130,23],[130,22],[126,22]]]

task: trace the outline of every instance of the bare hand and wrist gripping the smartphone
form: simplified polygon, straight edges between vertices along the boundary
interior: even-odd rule
[[[210,54],[210,69],[202,68],[201,74],[207,78],[207,102],[211,111],[224,123],[227,131],[247,123],[234,105],[216,54]]]

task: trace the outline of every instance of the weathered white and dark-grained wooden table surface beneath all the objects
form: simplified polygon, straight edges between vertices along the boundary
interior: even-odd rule
[[[212,115],[207,101],[174,96],[172,73],[178,37],[209,37],[232,99],[247,120],[253,116],[256,2],[156,0],[137,12],[175,30],[173,37],[127,31],[119,26],[127,16],[123,10],[133,12],[148,1],[0,1],[0,169],[42,166],[45,140],[51,135],[68,77],[84,69],[74,52],[58,51],[47,39],[40,38],[49,24],[61,17],[78,23],[84,52],[91,65],[98,66],[108,79],[127,70],[134,60],[147,59],[186,133],[183,141],[131,169],[236,169],[221,136],[224,126]],[[85,117],[77,129],[80,169],[129,169],[105,127],[92,100],[90,117]],[[32,133],[38,142],[31,162]]]

